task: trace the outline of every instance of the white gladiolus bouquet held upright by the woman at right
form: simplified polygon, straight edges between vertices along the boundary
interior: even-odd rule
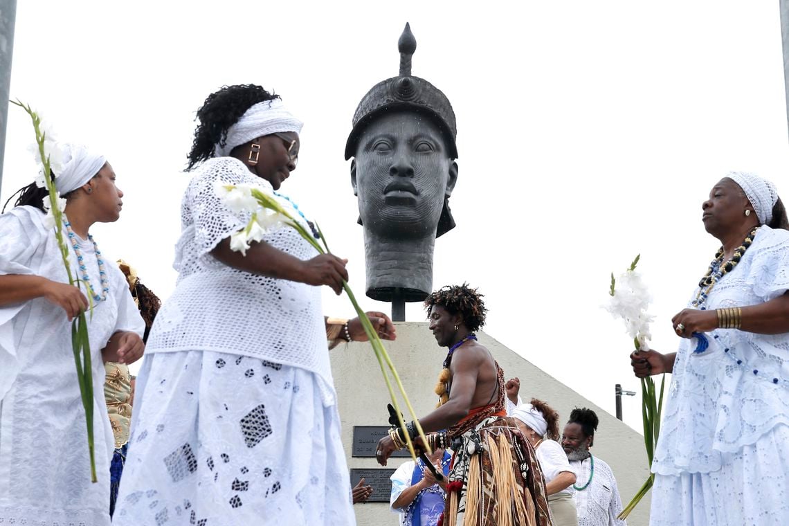
[[[641,259],[639,254],[630,263],[630,267],[619,275],[619,278],[614,277],[611,273],[611,289],[608,294],[611,300],[605,309],[611,312],[616,318],[622,319],[625,323],[627,334],[633,338],[636,351],[648,351],[649,344],[647,341],[651,338],[649,334],[649,323],[653,322],[654,316],[647,312],[649,302],[652,297],[649,294],[644,282],[641,281],[641,274],[636,272],[636,265],[638,260]],[[649,376],[641,379],[641,416],[644,422],[644,443],[646,446],[646,456],[649,459],[649,466],[652,466],[653,454],[657,444],[657,437],[660,435],[660,411],[663,408],[663,387],[666,381],[665,375],[660,380],[660,396],[656,396],[655,382]],[[649,479],[634,498],[625,506],[622,513],[619,513],[619,519],[626,519],[630,512],[641,502],[641,498],[652,487],[654,475],[649,474]]]

